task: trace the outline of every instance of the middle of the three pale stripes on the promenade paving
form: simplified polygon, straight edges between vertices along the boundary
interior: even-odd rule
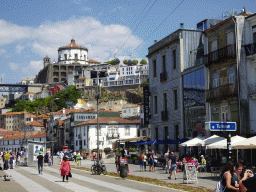
[[[37,170],[29,168],[29,167],[21,167],[21,169],[26,170],[26,171],[28,171],[28,172],[30,172],[32,174],[37,174],[38,173]],[[72,182],[69,182],[69,183],[66,183],[66,182],[55,182],[55,181],[59,181],[60,178],[52,176],[52,175],[47,174],[47,173],[43,173],[39,177],[42,177],[42,178],[44,178],[44,179],[46,179],[48,181],[51,181],[51,182],[53,182],[53,183],[55,183],[57,185],[60,185],[60,186],[62,186],[64,188],[66,188],[66,189],[70,189],[70,190],[75,191],[75,192],[79,192],[79,191],[96,192],[95,190],[89,189],[87,187],[84,187],[84,186],[81,186],[81,185],[78,185],[78,184],[75,184],[75,183],[72,183]]]

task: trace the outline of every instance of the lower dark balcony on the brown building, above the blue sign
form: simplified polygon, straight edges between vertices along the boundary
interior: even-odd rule
[[[206,90],[206,101],[223,100],[237,96],[236,83]]]

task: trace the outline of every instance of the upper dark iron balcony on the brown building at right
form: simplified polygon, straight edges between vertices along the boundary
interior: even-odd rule
[[[210,67],[212,64],[225,62],[228,59],[236,58],[236,46],[228,45],[217,51],[213,51],[205,55],[204,63],[206,67]]]

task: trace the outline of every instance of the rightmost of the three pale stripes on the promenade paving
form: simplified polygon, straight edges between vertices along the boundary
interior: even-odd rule
[[[47,169],[49,171],[52,171],[52,172],[55,172],[55,173],[59,172],[57,169],[54,169],[54,168],[50,168],[49,167]],[[94,185],[99,185],[99,186],[102,186],[102,187],[113,189],[113,190],[116,190],[116,191],[142,192],[142,191],[139,191],[139,190],[136,190],[136,189],[132,189],[132,188],[129,188],[129,187],[124,187],[122,185],[117,185],[117,184],[113,184],[113,183],[109,183],[109,182],[93,179],[93,178],[90,178],[90,177],[81,176],[81,175],[78,175],[78,174],[75,174],[75,173],[72,173],[72,177],[76,178],[76,179],[79,179],[79,180],[86,181],[88,183],[92,183]]]

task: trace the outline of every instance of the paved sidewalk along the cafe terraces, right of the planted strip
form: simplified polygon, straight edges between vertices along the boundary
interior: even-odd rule
[[[104,160],[103,160],[104,161]],[[71,162],[72,165],[76,165],[75,162]],[[93,165],[92,160],[82,160],[81,161],[81,167],[91,168],[91,165]],[[116,173],[116,165],[114,163],[105,164],[108,172]],[[156,168],[155,172],[149,171],[149,166],[147,166],[147,170],[144,172],[140,172],[139,165],[130,164],[129,165],[130,173],[129,175],[134,176],[142,176],[142,177],[149,177],[152,179],[158,179],[170,183],[177,183],[177,184],[183,184],[183,172],[177,173],[177,180],[174,179],[174,174],[172,175],[172,179],[168,179],[169,176],[168,173],[165,173],[165,170],[162,170],[162,168]],[[194,186],[194,187],[203,187],[207,189],[215,189],[216,183],[220,180],[218,177],[212,177],[211,173],[208,172],[201,172],[197,175],[198,178],[198,184],[196,182],[189,182],[188,185]],[[184,181],[184,184],[187,184],[187,181]]]

